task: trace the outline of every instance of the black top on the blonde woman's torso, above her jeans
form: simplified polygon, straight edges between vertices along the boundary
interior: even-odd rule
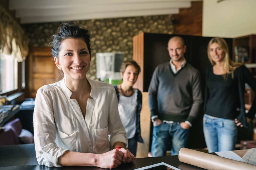
[[[206,88],[209,98],[205,114],[234,120],[239,114],[236,108],[240,108],[237,71],[234,72],[234,79],[229,74],[224,80],[223,75],[214,74],[213,67],[211,67],[206,80]]]

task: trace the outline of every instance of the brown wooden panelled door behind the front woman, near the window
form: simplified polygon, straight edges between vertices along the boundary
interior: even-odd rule
[[[54,83],[56,66],[51,58],[50,48],[31,47],[29,52],[28,96],[35,98],[43,85]]]

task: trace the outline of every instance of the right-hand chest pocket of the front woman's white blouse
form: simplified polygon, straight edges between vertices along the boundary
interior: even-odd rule
[[[108,140],[108,126],[104,129],[94,129],[95,143],[97,147],[102,147]]]

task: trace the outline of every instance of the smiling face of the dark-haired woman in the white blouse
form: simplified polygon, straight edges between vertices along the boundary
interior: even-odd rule
[[[58,69],[70,79],[83,79],[90,68],[91,54],[83,39],[69,38],[62,41],[59,59],[54,58]]]

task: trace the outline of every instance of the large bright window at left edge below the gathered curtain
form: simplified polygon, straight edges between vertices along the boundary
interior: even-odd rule
[[[18,62],[14,55],[0,53],[0,94],[18,87]]]

